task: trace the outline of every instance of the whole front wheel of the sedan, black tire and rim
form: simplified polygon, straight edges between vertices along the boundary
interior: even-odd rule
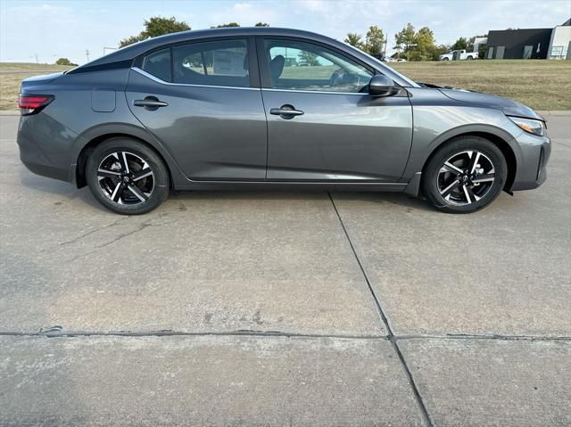
[[[507,176],[508,165],[495,144],[480,136],[459,136],[426,163],[422,193],[444,212],[470,213],[494,201]]]

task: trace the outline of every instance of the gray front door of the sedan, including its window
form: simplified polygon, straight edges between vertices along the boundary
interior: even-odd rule
[[[406,91],[374,98],[374,71],[324,45],[260,39],[268,180],[397,181],[412,142]],[[265,76],[265,77],[264,77]]]

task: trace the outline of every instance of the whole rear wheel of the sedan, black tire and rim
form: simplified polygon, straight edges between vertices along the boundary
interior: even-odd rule
[[[111,138],[95,147],[87,158],[86,180],[97,201],[122,215],[145,214],[170,193],[169,170],[161,157],[126,137]]]

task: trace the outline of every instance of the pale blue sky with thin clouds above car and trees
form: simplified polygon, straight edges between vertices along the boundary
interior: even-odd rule
[[[175,16],[193,29],[228,21],[308,29],[343,39],[377,25],[389,37],[411,22],[433,29],[438,43],[489,29],[550,28],[571,16],[571,0],[242,0],[242,1],[12,1],[0,0],[0,62],[79,64],[137,34],[153,15]]]

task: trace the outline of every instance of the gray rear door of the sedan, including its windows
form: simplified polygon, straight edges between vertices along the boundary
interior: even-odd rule
[[[253,38],[200,40],[137,59],[133,114],[193,180],[263,180],[267,131]]]

